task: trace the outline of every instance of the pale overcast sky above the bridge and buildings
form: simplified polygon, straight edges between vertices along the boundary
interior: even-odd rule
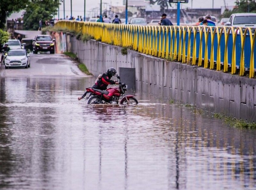
[[[92,10],[92,8],[99,7],[100,0],[85,0],[86,12]],[[224,0],[213,0],[214,8],[220,8],[224,6]],[[233,6],[236,0],[226,0],[228,6]],[[102,0],[102,3],[112,4],[114,6],[123,5],[123,0]],[[182,4],[182,8],[191,8],[191,0],[188,4]],[[212,0],[193,0],[193,8],[212,8]],[[86,13],[86,15],[87,15]],[[72,0],[72,14],[74,16],[84,14],[84,0]],[[65,0],[65,15],[70,16],[70,0]],[[63,3],[60,5],[60,17],[63,17]]]

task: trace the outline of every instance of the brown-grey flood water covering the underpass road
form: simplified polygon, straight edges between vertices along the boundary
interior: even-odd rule
[[[256,188],[255,130],[139,92],[78,101],[94,80],[0,78],[0,188]]]

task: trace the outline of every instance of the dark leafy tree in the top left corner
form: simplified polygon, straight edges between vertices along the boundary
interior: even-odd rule
[[[0,3],[0,28],[4,28],[6,18],[13,12],[25,9],[29,0],[1,0]]]

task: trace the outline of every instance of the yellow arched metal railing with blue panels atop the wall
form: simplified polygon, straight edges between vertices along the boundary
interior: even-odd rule
[[[240,76],[249,71],[249,77],[254,77],[256,35],[249,27],[137,26],[79,21],[59,21],[56,26],[148,55]]]

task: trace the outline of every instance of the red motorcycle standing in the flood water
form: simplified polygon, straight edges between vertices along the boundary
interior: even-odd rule
[[[119,85],[115,87],[110,87],[107,90],[99,90],[95,88],[86,88],[87,92],[90,92],[92,97],[88,100],[88,104],[138,104],[138,101],[133,95],[125,95],[124,91],[127,90],[125,83],[120,81]],[[89,93],[88,93],[89,94]],[[121,98],[120,102],[119,99]]]

